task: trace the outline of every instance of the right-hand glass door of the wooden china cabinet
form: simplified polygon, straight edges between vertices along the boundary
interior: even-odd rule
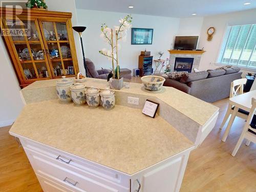
[[[40,20],[41,33],[50,60],[52,76],[75,76],[73,52],[70,47],[70,34],[66,21]]]

